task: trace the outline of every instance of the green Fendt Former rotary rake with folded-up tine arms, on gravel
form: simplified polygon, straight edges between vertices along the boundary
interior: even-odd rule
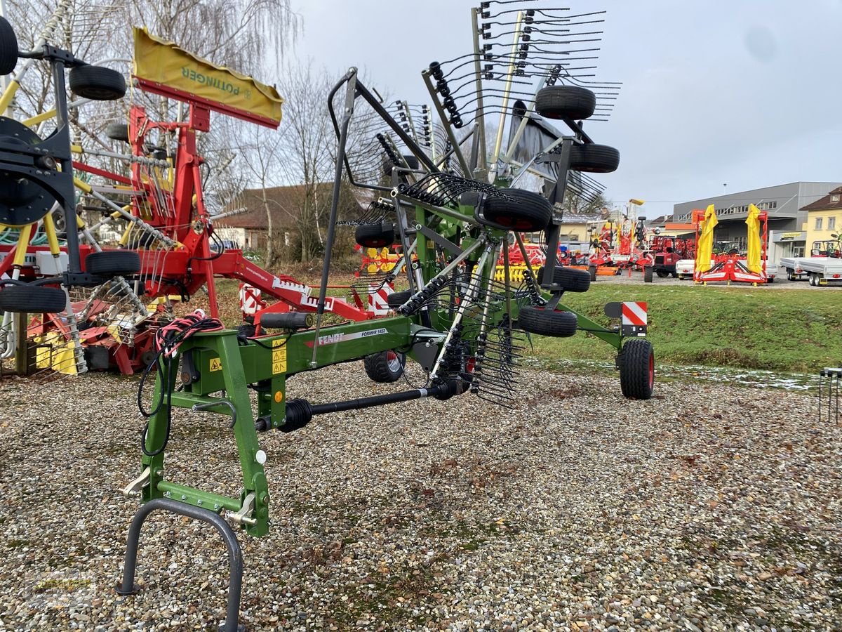
[[[261,327],[273,333],[249,336],[197,313],[157,330],[157,355],[147,367],[156,377],[152,410],[141,410],[147,415],[141,466],[124,490],[142,505],[131,523],[120,594],[137,590],[136,555],[146,517],[157,510],[193,517],[213,525],[226,541],[232,578],[224,629],[238,629],[242,554],[232,525],[255,537],[270,526],[262,432],[295,431],[317,415],[431,396],[449,400],[470,393],[511,405],[524,388],[517,363],[528,337],[566,337],[578,330],[616,348],[626,397],[652,396],[645,305],[606,305],[606,316],[620,324],[604,327],[562,304],[565,292],[587,291],[590,276],[557,265],[559,202],[568,191],[599,192],[587,174],[613,171],[619,163],[616,149],[594,143],[581,123],[610,114],[618,89],[584,80],[590,76],[587,60],[597,50],[593,29],[600,14],[525,4],[514,9],[509,2],[484,2],[472,10],[473,52],[422,72],[431,108],[404,104],[396,118],[355,68],[333,88],[328,108],[338,152],[315,318],[266,313]],[[498,131],[487,139],[492,117],[498,117]],[[365,247],[397,244],[402,265],[395,269],[406,276],[408,290],[389,296],[392,315],[326,324],[344,179],[376,191],[355,236]],[[539,193],[538,187],[525,188],[530,181],[549,185]],[[546,265],[540,270],[529,264],[523,233],[544,235]],[[510,244],[517,244],[526,262],[517,284],[509,270]],[[296,373],[365,359],[371,378],[389,382],[406,358],[427,375],[418,388],[325,403],[287,398],[287,378]],[[256,394],[254,408],[250,391]],[[195,413],[228,421],[242,468],[238,495],[166,475],[172,426]]]

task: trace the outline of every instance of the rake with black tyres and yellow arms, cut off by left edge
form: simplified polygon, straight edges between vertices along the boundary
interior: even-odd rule
[[[0,111],[11,103],[31,64],[45,61],[51,68],[55,99],[55,110],[48,114],[55,116],[56,126],[50,136],[41,138],[24,123],[0,116],[0,228],[12,228],[16,233],[14,243],[3,248],[6,256],[0,260],[0,355],[13,355],[16,336],[11,334],[25,329],[23,317],[13,320],[14,313],[66,312],[62,328],[71,343],[61,350],[61,362],[73,367],[74,372],[82,372],[85,365],[67,290],[97,286],[112,277],[125,287],[121,276],[135,273],[139,260],[136,253],[127,250],[88,252],[83,258],[75,230],[67,231],[67,256],[62,256],[53,213],[60,214],[65,226],[75,227],[77,222],[65,71],[69,71],[72,90],[83,99],[114,100],[125,94],[125,81],[119,72],[91,66],[71,52],[46,43],[67,7],[68,3],[61,3],[56,9],[32,51],[19,51],[12,27],[6,19],[0,19],[0,74],[13,72],[19,58],[27,60],[0,96]],[[43,233],[46,245],[30,248],[38,233]],[[31,260],[28,254],[33,255]]]

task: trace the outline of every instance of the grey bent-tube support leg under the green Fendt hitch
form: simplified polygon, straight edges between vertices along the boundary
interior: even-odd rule
[[[123,566],[123,582],[115,588],[118,595],[135,595],[141,591],[135,585],[135,566],[137,564],[137,545],[141,538],[141,527],[147,516],[156,509],[177,513],[207,522],[216,527],[228,547],[228,563],[231,566],[231,585],[228,586],[228,609],[226,619],[220,624],[220,632],[245,632],[245,626],[237,622],[240,617],[240,593],[242,592],[242,551],[237,536],[225,520],[207,509],[187,505],[168,498],[155,498],[142,505],[137,510],[129,528],[129,541],[125,549],[125,565]]]

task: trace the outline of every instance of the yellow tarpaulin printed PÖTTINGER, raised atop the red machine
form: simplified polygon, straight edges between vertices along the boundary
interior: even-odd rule
[[[134,75],[141,88],[260,125],[277,127],[284,103],[272,86],[216,66],[179,46],[134,28]]]

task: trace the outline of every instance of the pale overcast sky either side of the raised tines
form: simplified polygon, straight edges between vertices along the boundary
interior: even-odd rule
[[[420,72],[472,51],[466,0],[292,0],[296,55],[341,77],[365,69],[395,98],[429,103]],[[517,7],[517,5],[514,5]],[[600,176],[616,204],[673,204],[797,180],[842,179],[842,0],[579,0],[607,9],[596,78],[621,81],[610,120],[587,127],[620,150]],[[725,186],[727,185],[727,186]]]

